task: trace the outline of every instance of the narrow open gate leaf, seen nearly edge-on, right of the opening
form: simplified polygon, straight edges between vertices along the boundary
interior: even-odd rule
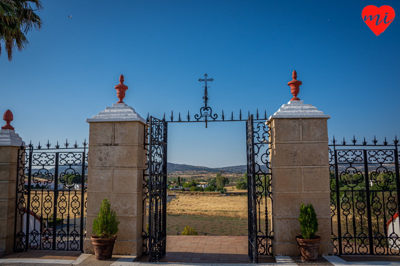
[[[248,207],[248,255],[253,263],[258,263],[257,248],[257,196],[254,164],[253,115],[246,121],[247,151],[247,207]]]

